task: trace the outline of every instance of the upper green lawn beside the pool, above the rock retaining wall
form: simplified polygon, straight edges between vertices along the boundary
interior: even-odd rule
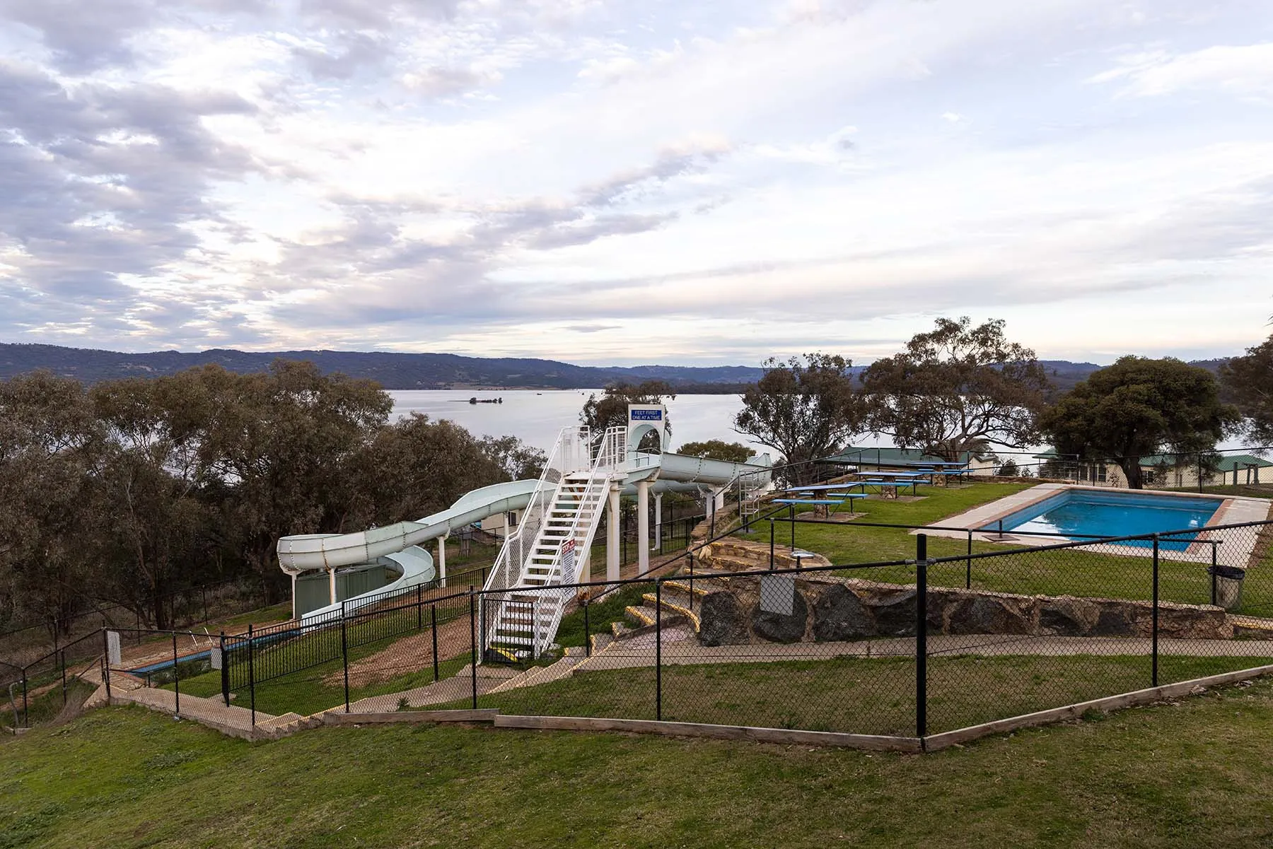
[[[869,499],[859,503],[863,522],[896,524],[941,524],[943,518],[962,513],[979,504],[1003,498],[1029,488],[1030,484],[974,484],[962,489],[924,488],[922,502]],[[1244,531],[1249,533],[1253,531]],[[791,524],[777,521],[775,544],[789,546]],[[769,542],[768,522],[745,538]],[[849,523],[796,524],[796,546],[816,551],[838,565],[913,559],[915,536],[900,528],[876,528]],[[973,552],[1021,549],[1020,544],[974,542]],[[961,558],[967,552],[965,540],[931,536],[929,558]],[[1148,555],[1148,551],[1147,551]],[[1265,558],[1265,563],[1268,558]],[[913,568],[845,570],[871,580],[914,583]],[[929,568],[929,586],[962,587],[969,579],[965,561],[937,564]],[[1148,600],[1153,596],[1152,559],[1102,554],[1099,546],[1057,551],[1023,551],[1003,559],[971,561],[971,587],[1022,594],[1069,594],[1102,598]],[[1162,601],[1211,603],[1211,578],[1206,564],[1160,560],[1158,596]],[[1273,569],[1248,577],[1242,607],[1237,612],[1268,616],[1273,614]]]

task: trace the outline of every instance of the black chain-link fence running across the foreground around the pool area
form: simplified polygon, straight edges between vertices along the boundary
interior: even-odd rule
[[[777,537],[799,522],[759,526]],[[494,708],[923,737],[1273,663],[1270,523],[1029,536],[945,540],[938,555],[920,532],[886,561],[787,568],[785,551],[726,569],[707,556],[722,531],[625,580],[486,592],[452,579],[233,635],[112,629],[127,649],[112,670],[171,690],[174,708],[210,699],[253,724]],[[528,636],[541,630],[552,639]],[[97,635],[97,652],[107,644]],[[28,705],[66,668],[66,652],[18,668]]]

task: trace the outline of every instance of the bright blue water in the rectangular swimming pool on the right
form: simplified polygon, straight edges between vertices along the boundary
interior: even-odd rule
[[[1128,490],[1067,489],[1003,518],[1004,531],[1062,535],[1136,536],[1202,528],[1220,509],[1218,498],[1155,495]],[[998,522],[984,526],[992,531]],[[1161,540],[1160,547],[1184,551],[1194,535]],[[1125,545],[1152,547],[1151,540]]]

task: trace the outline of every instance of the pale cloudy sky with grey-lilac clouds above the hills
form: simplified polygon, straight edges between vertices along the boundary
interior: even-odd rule
[[[1267,0],[0,0],[0,341],[1239,354]]]

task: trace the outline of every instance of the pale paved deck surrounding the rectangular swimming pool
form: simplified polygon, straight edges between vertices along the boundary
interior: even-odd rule
[[[990,502],[989,504],[981,504],[980,507],[974,507],[970,510],[965,510],[957,516],[936,522],[934,524],[938,527],[919,528],[918,531],[913,531],[913,533],[923,532],[928,536],[966,540],[967,530],[970,528],[983,528],[998,519],[1007,518],[1018,510],[1037,504],[1046,498],[1051,498],[1057,493],[1072,489],[1106,494],[1110,491],[1132,491],[1119,490],[1110,486],[1039,484],[1037,486],[1031,486],[1030,489],[1013,493],[1012,495]],[[1267,498],[1239,498],[1164,490],[1137,491],[1147,495],[1162,495],[1165,498],[1211,498],[1221,502],[1220,509],[1217,509],[1214,516],[1212,516],[1207,522],[1208,528],[1221,524],[1240,524],[1242,522],[1263,522],[1269,517],[1269,508],[1273,507],[1273,500]],[[1216,532],[1216,537],[1222,538],[1222,532]],[[1003,536],[999,536],[995,531],[974,531],[973,538],[979,542],[1011,544],[1031,547],[1057,545],[1058,542],[1064,542],[1067,540],[1067,537],[1026,536],[1013,533],[1012,531],[1004,531]],[[1204,528],[1199,531],[1197,541],[1184,551],[1169,551],[1162,549],[1158,551],[1158,556],[1162,560],[1206,563],[1209,565],[1212,549],[1209,542],[1207,542],[1209,538],[1211,533]],[[1255,549],[1255,532],[1228,535],[1227,538],[1223,538],[1223,545],[1220,545],[1217,549],[1217,563],[1245,569],[1249,565],[1251,551]],[[1144,558],[1148,555],[1148,551],[1144,547],[1132,545],[1101,545],[1101,551],[1105,554],[1120,554],[1134,558]]]

